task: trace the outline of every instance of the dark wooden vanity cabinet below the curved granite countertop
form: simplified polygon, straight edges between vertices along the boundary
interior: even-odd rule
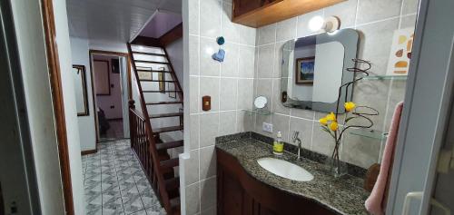
[[[317,202],[257,181],[232,155],[217,149],[216,156],[218,215],[336,214]]]

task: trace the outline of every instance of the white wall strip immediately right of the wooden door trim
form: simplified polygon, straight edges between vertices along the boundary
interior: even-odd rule
[[[69,39],[66,2],[54,0],[54,19],[62,91],[64,97],[64,119],[68,142],[69,164],[71,168],[71,183],[73,186],[74,214],[85,213],[84,177],[82,173],[81,140],[75,105],[74,79],[71,64],[71,44]],[[89,85],[89,84],[87,84]],[[93,123],[92,123],[93,124]]]

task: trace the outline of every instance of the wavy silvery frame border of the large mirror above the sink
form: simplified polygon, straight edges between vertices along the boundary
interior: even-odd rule
[[[325,43],[330,43],[337,41],[341,43],[344,46],[344,59],[343,59],[343,73],[342,73],[342,81],[341,84],[344,83],[349,83],[353,81],[355,74],[354,73],[349,73],[347,72],[347,68],[352,68],[355,67],[356,64],[352,61],[352,59],[357,58],[358,55],[358,47],[360,44],[360,35],[358,32],[354,29],[346,28],[346,29],[341,29],[333,33],[321,33],[321,34],[314,34],[314,35],[309,35],[310,36],[315,36],[317,44],[325,44]],[[304,37],[301,37],[304,38]],[[301,39],[299,38],[299,39]],[[296,40],[289,40],[285,44],[283,44],[283,47],[286,47],[289,43],[295,44]],[[281,56],[281,103],[285,107],[289,108],[299,108],[299,109],[306,109],[306,110],[311,110],[311,111],[316,111],[316,112],[335,112],[336,111],[336,103],[320,103],[320,102],[311,102],[311,101],[291,101],[288,98],[287,95],[287,90],[288,90],[288,83],[285,79],[282,78],[282,73],[288,73],[288,71],[284,72],[283,68],[285,67],[285,59],[286,57],[283,55],[284,52],[282,52]],[[287,57],[288,58],[288,57]],[[347,100],[351,101],[353,97],[353,87],[349,88],[349,92],[345,88],[342,88],[341,90],[341,98],[345,98],[345,95],[347,94]],[[308,108],[302,108],[300,104],[295,104],[295,103],[300,103],[303,104],[304,106],[311,106],[311,109]],[[339,112],[343,113],[344,109],[343,103],[339,103]]]

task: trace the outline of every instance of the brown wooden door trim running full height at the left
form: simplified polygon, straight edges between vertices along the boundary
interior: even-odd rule
[[[66,214],[74,215],[73,187],[71,183],[66,122],[64,119],[62,77],[60,72],[60,62],[58,60],[58,48],[56,44],[56,31],[54,24],[54,5],[52,4],[52,0],[41,0],[41,3],[46,57],[50,74],[52,99],[54,101],[55,129],[57,134],[58,155],[60,158],[60,171],[62,174],[64,191],[64,210],[66,211]]]

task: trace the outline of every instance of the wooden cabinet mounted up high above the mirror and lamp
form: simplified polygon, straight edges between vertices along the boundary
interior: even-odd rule
[[[343,1],[345,0],[232,0],[232,22],[261,27]]]

